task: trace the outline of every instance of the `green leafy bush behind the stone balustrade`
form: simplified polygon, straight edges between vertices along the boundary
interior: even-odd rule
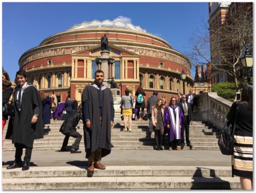
[[[213,84],[211,85],[211,91],[217,92],[217,94],[220,97],[232,102],[235,98],[235,93],[236,93],[235,84],[229,83],[229,82]]]

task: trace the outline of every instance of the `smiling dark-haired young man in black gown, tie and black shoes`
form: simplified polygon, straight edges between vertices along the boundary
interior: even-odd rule
[[[22,167],[22,171],[29,169],[29,161],[33,149],[34,139],[43,138],[42,101],[35,85],[27,83],[27,72],[19,70],[16,73],[18,87],[14,89],[15,116],[13,130],[8,127],[6,139],[12,139],[15,160],[7,169]],[[22,149],[25,148],[22,164]]]

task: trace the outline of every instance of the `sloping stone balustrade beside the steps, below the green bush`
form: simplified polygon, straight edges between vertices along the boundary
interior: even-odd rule
[[[207,121],[216,126],[216,129],[222,129],[227,122],[231,105],[232,102],[221,98],[217,93],[200,94],[198,106],[194,107],[194,120]]]

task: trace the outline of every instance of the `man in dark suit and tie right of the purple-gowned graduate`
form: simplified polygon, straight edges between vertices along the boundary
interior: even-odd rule
[[[181,103],[178,103],[180,106],[182,113],[184,114],[184,129],[182,131],[182,139],[181,139],[181,149],[184,148],[185,142],[184,142],[184,130],[186,134],[186,146],[189,146],[189,149],[191,150],[193,148],[193,145],[191,145],[190,140],[189,140],[189,125],[193,124],[193,116],[192,116],[192,108],[189,103],[186,102],[186,95],[182,95],[182,101]]]

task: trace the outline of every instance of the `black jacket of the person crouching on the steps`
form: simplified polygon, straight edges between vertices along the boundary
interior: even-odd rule
[[[82,114],[79,110],[72,110],[65,121],[62,123],[60,132],[64,135],[70,135],[73,131],[76,131],[76,126],[79,120],[82,119]]]

